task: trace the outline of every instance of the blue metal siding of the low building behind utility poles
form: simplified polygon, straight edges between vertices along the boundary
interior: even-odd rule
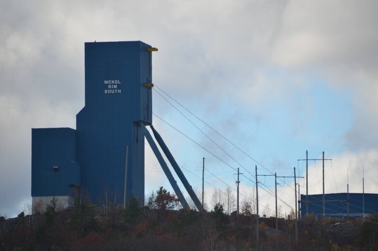
[[[309,214],[323,214],[323,195],[309,195]],[[325,195],[326,215],[347,214],[347,193]],[[300,213],[306,215],[306,195],[300,195]],[[365,194],[365,214],[378,213],[378,194]],[[362,193],[349,193],[349,214],[362,214]]]

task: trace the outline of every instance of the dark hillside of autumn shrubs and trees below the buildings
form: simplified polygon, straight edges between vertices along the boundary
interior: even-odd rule
[[[58,210],[52,201],[46,213],[0,222],[0,250],[255,250],[256,216],[246,206],[238,218],[221,203],[210,212],[178,208],[178,199],[160,187],[141,207],[133,198],[126,210],[89,200]],[[151,207],[150,207],[151,206]],[[33,217],[33,224],[30,218]],[[294,221],[259,218],[260,250],[375,250],[377,217],[352,224],[299,222],[295,242]]]

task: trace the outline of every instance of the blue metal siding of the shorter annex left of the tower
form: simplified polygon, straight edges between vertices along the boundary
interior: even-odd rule
[[[80,184],[76,131],[71,128],[31,130],[31,196],[69,195]],[[75,164],[73,164],[73,161]],[[58,166],[58,171],[53,167]]]

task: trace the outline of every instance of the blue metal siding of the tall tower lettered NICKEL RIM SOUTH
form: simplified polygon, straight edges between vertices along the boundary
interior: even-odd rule
[[[93,202],[101,202],[106,190],[123,202],[127,145],[127,200],[134,195],[144,201],[144,137],[135,122],[151,123],[152,108],[147,116],[143,110],[143,103],[151,106],[151,90],[142,81],[151,78],[147,47],[140,41],[85,43],[85,107],[77,115],[77,148],[81,184]],[[105,80],[119,80],[120,93],[105,93]]]

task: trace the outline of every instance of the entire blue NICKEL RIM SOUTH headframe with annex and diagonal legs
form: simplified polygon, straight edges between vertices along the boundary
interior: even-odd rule
[[[154,136],[198,210],[202,204],[168,147],[152,127],[152,51],[141,41],[85,43],[85,106],[76,130],[31,131],[31,196],[33,208],[55,197],[72,205],[74,189],[85,189],[93,203],[107,198],[144,203],[144,138],[154,151],[183,207],[188,203],[165,163]],[[126,146],[128,158],[126,160]],[[126,172],[127,165],[127,172]],[[127,179],[125,181],[125,176]]]

